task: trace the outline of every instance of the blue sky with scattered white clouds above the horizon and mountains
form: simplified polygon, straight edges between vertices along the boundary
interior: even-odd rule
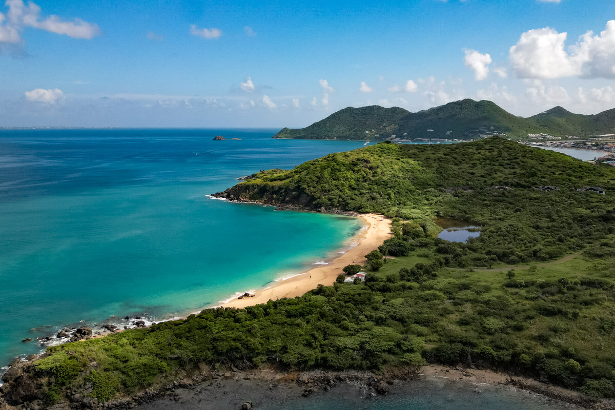
[[[612,0],[7,0],[0,126],[303,127],[461,98],[615,107]]]

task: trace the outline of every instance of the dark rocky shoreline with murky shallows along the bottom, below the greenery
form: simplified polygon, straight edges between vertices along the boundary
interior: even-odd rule
[[[33,376],[34,360],[19,361],[7,371],[0,387],[0,410],[93,410],[93,409],[258,409],[269,404],[297,400],[314,393],[336,394],[339,389],[352,390],[368,399],[386,395],[394,385],[411,384],[421,377],[442,377],[451,381],[472,383],[472,386],[499,385],[526,393],[544,396],[562,407],[591,410],[614,409],[613,401],[598,401],[581,393],[543,384],[525,377],[510,376],[480,369],[428,365],[421,369],[394,368],[382,373],[369,371],[280,371],[272,366],[259,369],[212,368],[201,363],[170,384],[149,388],[145,392],[99,403],[89,396],[92,387],[85,384],[81,392],[73,392],[68,401],[46,405],[44,379]],[[474,387],[475,393],[480,388]],[[21,402],[17,405],[17,402]]]

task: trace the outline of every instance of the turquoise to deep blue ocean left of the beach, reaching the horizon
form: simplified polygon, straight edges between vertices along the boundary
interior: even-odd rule
[[[0,367],[63,326],[181,316],[333,256],[358,219],[207,196],[362,146],[273,133],[0,130]]]

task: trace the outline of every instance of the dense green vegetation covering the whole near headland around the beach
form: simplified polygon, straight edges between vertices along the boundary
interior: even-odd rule
[[[542,185],[560,191],[535,189]],[[595,185],[606,195],[576,191]],[[366,270],[367,281],[340,277],[301,298],[52,347],[35,376],[47,380],[52,403],[85,387],[109,400],[199,364],[378,371],[430,361],[614,396],[613,192],[613,167],[498,137],[379,143],[256,173],[218,195],[394,218],[394,237],[365,266],[339,272]],[[466,243],[438,239],[434,217],[470,222],[481,234]]]

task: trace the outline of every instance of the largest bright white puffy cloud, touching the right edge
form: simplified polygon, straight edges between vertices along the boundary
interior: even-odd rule
[[[606,29],[600,34],[588,31],[568,51],[566,37],[568,33],[558,33],[548,27],[523,33],[509,52],[517,77],[615,78],[615,20],[606,23]]]

